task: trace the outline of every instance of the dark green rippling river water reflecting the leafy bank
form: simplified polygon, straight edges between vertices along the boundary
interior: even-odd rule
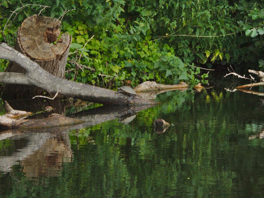
[[[260,99],[170,91],[128,124],[0,140],[0,197],[264,197]]]

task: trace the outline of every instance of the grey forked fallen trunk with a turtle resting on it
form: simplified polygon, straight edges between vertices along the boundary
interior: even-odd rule
[[[58,93],[90,102],[108,105],[156,104],[155,101],[134,96],[132,101],[125,94],[87,84],[76,83],[51,75],[25,55],[0,44],[0,58],[12,60],[25,69],[25,73],[0,73],[0,82],[7,84],[34,85],[51,93]]]

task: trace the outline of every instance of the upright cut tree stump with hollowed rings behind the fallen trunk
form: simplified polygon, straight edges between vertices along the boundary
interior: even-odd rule
[[[15,50],[38,63],[50,74],[63,78],[71,37],[60,34],[61,22],[50,17],[33,15],[24,20],[17,33]],[[53,44],[53,42],[56,44]],[[25,73],[17,63],[10,61],[5,72]],[[6,84],[3,95],[5,98],[29,98],[43,95],[45,90],[35,86]]]

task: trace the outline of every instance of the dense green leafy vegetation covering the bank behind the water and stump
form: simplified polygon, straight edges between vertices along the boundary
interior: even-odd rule
[[[72,36],[65,78],[77,82],[205,83],[197,67],[264,68],[264,1],[4,0],[0,42],[14,46],[33,14],[61,20]]]

